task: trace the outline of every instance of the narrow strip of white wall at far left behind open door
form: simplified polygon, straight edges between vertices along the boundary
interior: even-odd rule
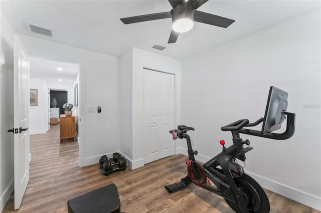
[[[0,211],[14,190],[14,30],[0,10]]]

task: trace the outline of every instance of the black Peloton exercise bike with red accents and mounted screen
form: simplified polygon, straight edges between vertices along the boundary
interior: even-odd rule
[[[250,141],[248,139],[243,140],[240,133],[278,140],[290,138],[295,130],[295,114],[286,112],[287,95],[287,92],[271,86],[264,118],[262,117],[253,123],[250,123],[248,119],[241,119],[221,127],[223,131],[232,132],[233,144],[225,147],[225,141],[220,140],[223,146],[222,152],[203,165],[195,161],[194,155],[197,155],[197,151],[193,150],[191,138],[187,134],[187,131],[194,130],[194,128],[179,125],[177,129],[171,130],[173,139],[185,138],[187,141],[189,157],[186,159],[186,164],[188,175],[179,182],[166,185],[167,191],[172,193],[182,190],[193,182],[224,197],[235,212],[268,213],[270,203],[266,193],[259,183],[244,173],[243,167],[237,161],[237,159],[245,161],[245,153],[253,149],[251,146],[244,147],[244,144],[250,145]],[[272,131],[281,128],[285,119],[286,130],[283,133],[272,133]],[[244,128],[256,126],[262,121],[261,131]],[[218,166],[221,168],[218,168]]]

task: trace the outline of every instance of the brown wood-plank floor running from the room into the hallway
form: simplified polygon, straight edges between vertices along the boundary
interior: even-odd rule
[[[164,185],[186,175],[186,156],[179,154],[143,167],[100,173],[97,164],[79,167],[77,142],[59,143],[59,125],[46,134],[30,136],[30,181],[20,209],[15,212],[67,212],[67,200],[109,183],[118,187],[121,210],[132,212],[233,212],[220,196],[194,184],[175,193]],[[320,212],[266,190],[270,212]],[[14,196],[3,212],[14,212]]]

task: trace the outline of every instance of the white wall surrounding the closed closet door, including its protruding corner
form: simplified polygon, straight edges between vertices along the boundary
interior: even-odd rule
[[[143,67],[175,74],[175,119],[177,123],[180,123],[181,62],[132,47],[119,57],[118,64],[120,152],[127,158],[127,163],[131,168],[137,168],[144,165]]]

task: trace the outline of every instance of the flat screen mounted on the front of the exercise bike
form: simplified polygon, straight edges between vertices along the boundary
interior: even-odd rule
[[[284,112],[287,109],[287,95],[286,91],[274,86],[270,87],[261,134],[281,128],[282,122],[286,118]]]

